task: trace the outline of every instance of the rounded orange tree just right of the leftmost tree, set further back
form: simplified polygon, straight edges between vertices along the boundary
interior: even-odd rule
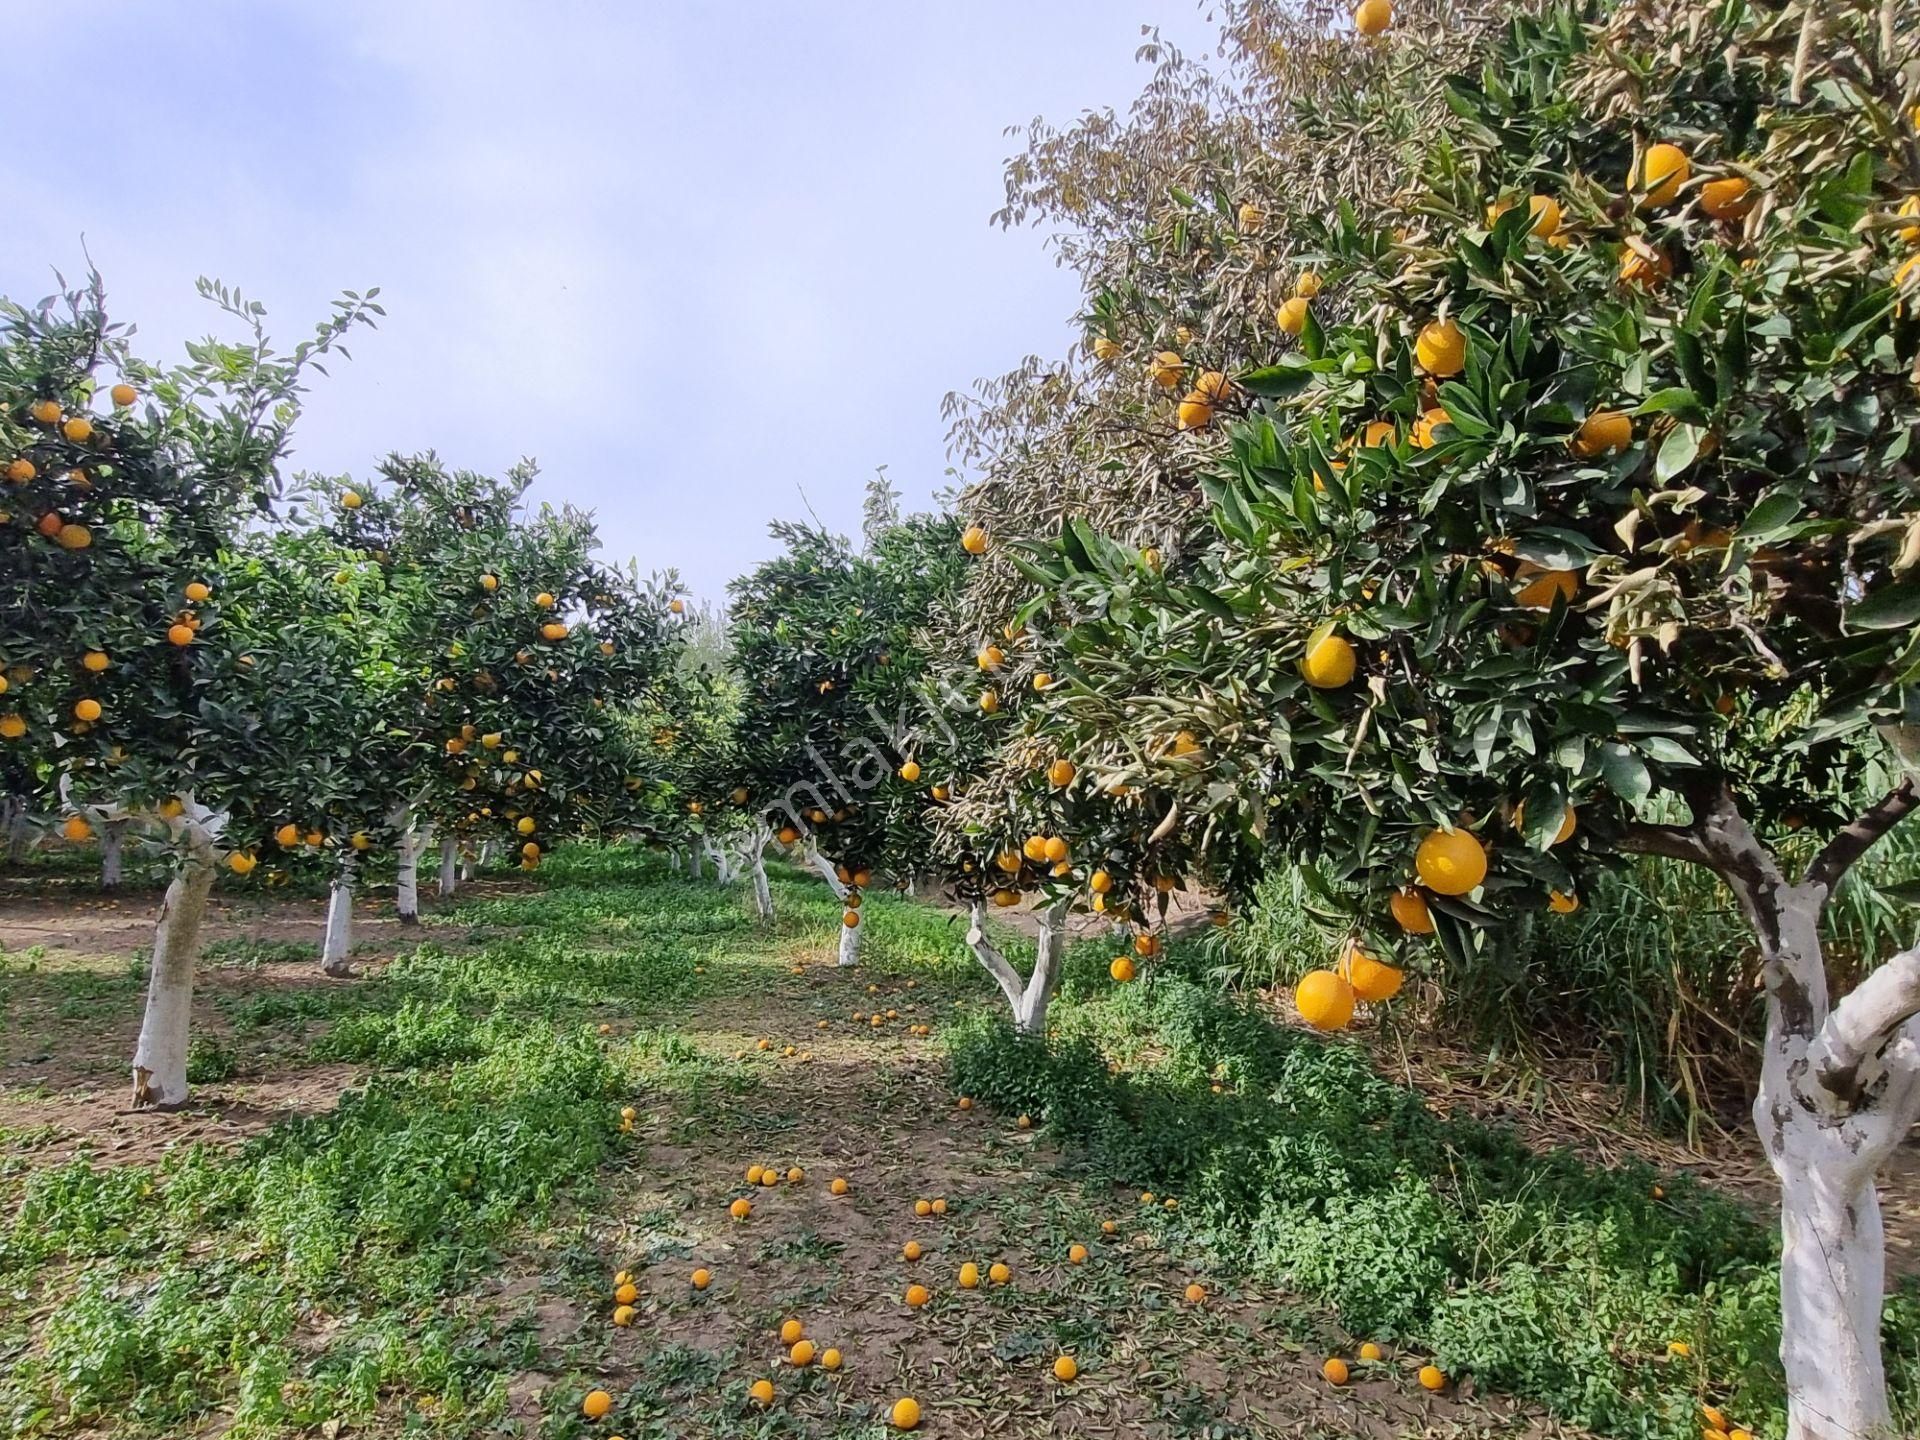
[[[328,534],[363,557],[382,636],[403,897],[434,829],[451,889],[451,841],[497,841],[534,868],[559,839],[641,818],[653,758],[630,710],[672,666],[678,584],[601,561],[580,511],[528,515],[534,474],[422,455],[392,457],[365,488],[324,486]]]

